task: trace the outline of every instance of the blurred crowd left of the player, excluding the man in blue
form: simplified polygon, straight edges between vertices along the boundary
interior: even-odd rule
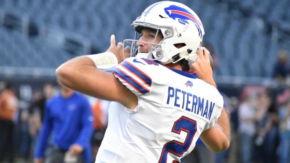
[[[0,81],[0,162],[33,162],[45,104],[60,93],[60,88],[59,84],[45,83],[42,90],[21,85],[16,91],[10,83]],[[108,124],[110,102],[85,97],[93,116],[93,134],[88,136],[95,158]]]

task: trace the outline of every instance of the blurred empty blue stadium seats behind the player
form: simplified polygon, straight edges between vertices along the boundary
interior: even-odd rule
[[[56,84],[55,69],[66,60],[106,51],[111,34],[116,42],[133,38],[130,24],[155,2],[0,0],[0,81],[31,100],[44,83]],[[199,15],[203,46],[212,48],[215,80],[225,95],[239,98],[247,85],[280,87],[274,67],[278,51],[290,51],[289,0],[177,2]]]

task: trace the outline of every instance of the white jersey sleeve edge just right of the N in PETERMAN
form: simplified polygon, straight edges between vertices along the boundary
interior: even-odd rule
[[[213,112],[211,113],[211,120],[205,125],[203,131],[213,127],[217,123],[219,117],[221,116],[221,110],[224,106],[224,100],[221,94],[217,93],[217,101],[214,104]]]

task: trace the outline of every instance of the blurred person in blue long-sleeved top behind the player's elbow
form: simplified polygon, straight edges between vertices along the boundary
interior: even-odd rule
[[[58,163],[75,159],[75,162],[91,163],[92,120],[89,101],[60,84],[60,93],[45,104],[34,162]]]

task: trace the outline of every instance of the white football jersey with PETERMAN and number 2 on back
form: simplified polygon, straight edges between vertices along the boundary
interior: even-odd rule
[[[138,106],[111,103],[96,162],[180,162],[220,117],[223,97],[194,73],[136,57],[113,73],[136,94]]]

